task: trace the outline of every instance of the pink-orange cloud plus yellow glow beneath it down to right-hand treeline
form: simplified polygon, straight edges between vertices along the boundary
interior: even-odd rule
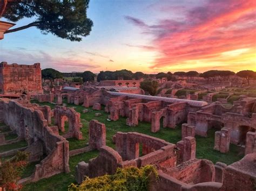
[[[151,69],[255,69],[255,5],[253,0],[209,0],[181,12],[184,20],[165,19],[151,26],[132,20],[156,37],[153,46],[160,55]],[[247,51],[239,53],[241,49]]]

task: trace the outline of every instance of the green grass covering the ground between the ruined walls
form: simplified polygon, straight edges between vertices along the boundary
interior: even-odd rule
[[[33,103],[37,103],[33,101]],[[51,108],[54,108],[54,104],[51,103],[40,103],[41,105],[49,105]],[[102,111],[95,111],[92,108],[89,108],[89,112],[83,114],[82,110],[84,107],[81,105],[73,105],[68,104],[68,107],[75,107],[76,111],[81,113],[81,122],[83,123],[83,128],[81,131],[83,132],[83,140],[76,140],[74,138],[69,138],[70,150],[75,150],[77,148],[82,148],[86,146],[88,143],[88,128],[89,122],[91,119],[96,119],[99,122],[102,122],[106,125],[106,145],[114,148],[114,144],[112,143],[112,136],[116,134],[118,131],[122,132],[129,132],[129,131],[136,131],[140,133],[144,133],[146,135],[150,135],[153,137],[158,137],[161,139],[166,140],[167,142],[176,144],[179,140],[181,140],[181,125],[178,125],[176,129],[169,129],[169,128],[161,128],[159,132],[153,133],[151,132],[151,124],[140,122],[136,127],[130,127],[126,125],[126,118],[120,117],[120,119],[116,122],[107,121],[107,114]],[[95,117],[95,113],[100,112],[102,116]],[[68,130],[68,125],[65,126],[65,129]],[[213,150],[214,146],[214,132],[215,129],[211,129],[208,131],[208,137],[200,137],[196,136],[197,140],[197,158],[199,159],[208,159],[212,160],[213,163],[220,161],[224,162],[227,165],[232,164],[234,161],[240,160],[242,155],[240,155],[240,148],[231,145],[230,152],[223,154],[218,151]],[[70,157],[69,164],[70,164],[70,173],[65,174],[57,174],[52,176],[48,179],[43,179],[38,182],[28,183],[24,185],[23,190],[67,190],[70,183],[75,182],[75,166],[80,161],[88,161],[91,158],[97,157],[98,151],[90,151],[87,153],[75,155]],[[22,178],[25,176],[29,176],[33,172],[33,166],[35,164],[30,164],[25,172],[22,175]]]

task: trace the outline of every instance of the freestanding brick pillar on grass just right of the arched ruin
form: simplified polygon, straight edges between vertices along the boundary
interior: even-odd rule
[[[91,120],[89,125],[89,145],[92,149],[99,150],[106,146],[106,126],[97,120]]]

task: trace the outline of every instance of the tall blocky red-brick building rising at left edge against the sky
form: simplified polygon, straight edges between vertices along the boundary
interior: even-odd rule
[[[0,63],[0,94],[43,93],[40,63],[18,65]]]

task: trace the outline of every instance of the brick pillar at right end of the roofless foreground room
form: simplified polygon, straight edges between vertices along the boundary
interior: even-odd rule
[[[194,137],[184,138],[183,162],[196,158],[196,139]]]

